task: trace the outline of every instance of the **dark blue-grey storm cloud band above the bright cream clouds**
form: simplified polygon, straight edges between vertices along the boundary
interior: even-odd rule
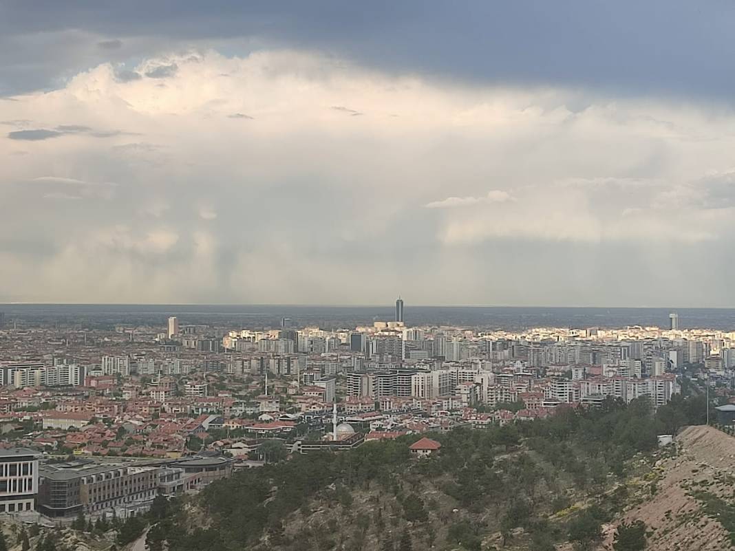
[[[735,93],[735,73],[726,70],[734,26],[735,4],[725,0],[46,0],[6,6],[0,36],[80,29],[169,45],[244,37],[266,47],[318,49],[373,67],[475,82],[729,99]],[[56,60],[56,74],[45,76],[30,63],[47,59],[48,48],[24,48],[20,62],[17,49],[6,51],[12,54],[0,54],[0,74],[7,76],[7,82],[0,77],[0,93],[65,73],[64,59]]]

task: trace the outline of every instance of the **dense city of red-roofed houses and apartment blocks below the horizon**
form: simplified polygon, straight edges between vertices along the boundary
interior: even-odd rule
[[[193,320],[196,321],[196,320]],[[0,514],[126,518],[272,455],[482,430],[730,387],[735,331],[184,324],[24,325],[0,315]],[[664,324],[662,324],[664,325]],[[415,456],[439,444],[420,439]]]

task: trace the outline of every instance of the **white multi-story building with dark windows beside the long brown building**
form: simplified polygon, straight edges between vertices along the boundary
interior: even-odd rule
[[[38,456],[21,448],[0,450],[0,513],[35,510]]]

